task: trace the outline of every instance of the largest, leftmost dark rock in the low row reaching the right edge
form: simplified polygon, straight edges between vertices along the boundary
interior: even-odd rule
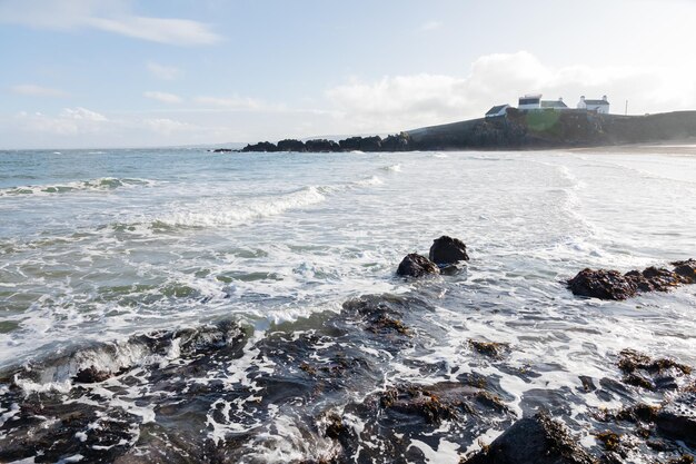
[[[586,268],[568,280],[568,288],[574,295],[599,299],[626,299],[636,294],[634,280],[626,278],[618,270],[594,270]]]

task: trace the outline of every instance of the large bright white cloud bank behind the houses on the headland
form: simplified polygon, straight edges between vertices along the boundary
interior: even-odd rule
[[[580,95],[607,95],[613,112],[622,112],[625,100],[636,113],[685,109],[696,106],[689,76],[685,70],[649,67],[551,67],[520,51],[480,57],[466,77],[352,79],[326,96],[344,113],[347,131],[384,132],[478,118],[494,105],[516,106],[517,97],[528,92],[543,92],[547,99],[565,97],[570,107]]]

